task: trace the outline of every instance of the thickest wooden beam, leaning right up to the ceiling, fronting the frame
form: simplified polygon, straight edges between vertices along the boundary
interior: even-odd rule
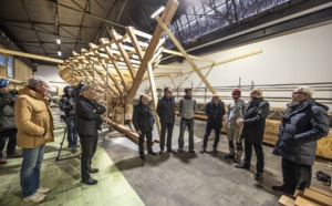
[[[167,1],[165,10],[162,14],[162,19],[166,22],[166,24],[168,24],[169,21],[173,19],[177,8],[178,8],[178,2],[176,0],[168,0]],[[153,33],[153,37],[151,38],[151,42],[147,47],[147,50],[144,54],[144,58],[141,62],[137,75],[134,79],[133,86],[132,86],[132,89],[131,89],[131,91],[129,91],[129,93],[126,97],[126,103],[132,103],[132,101],[134,100],[134,97],[137,93],[137,90],[139,87],[139,84],[141,84],[142,80],[144,78],[144,74],[146,73],[147,64],[149,63],[151,59],[153,58],[153,55],[155,53],[155,50],[156,50],[156,48],[159,43],[162,34],[163,34],[163,29],[159,24],[157,24],[157,27],[156,27],[156,29]]]

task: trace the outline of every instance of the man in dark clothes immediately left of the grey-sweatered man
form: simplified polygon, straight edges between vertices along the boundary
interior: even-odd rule
[[[159,100],[157,105],[157,114],[160,120],[162,134],[160,134],[160,155],[164,153],[165,136],[167,131],[167,152],[175,153],[172,148],[172,135],[175,122],[175,102],[172,95],[170,87],[164,89],[164,96]]]

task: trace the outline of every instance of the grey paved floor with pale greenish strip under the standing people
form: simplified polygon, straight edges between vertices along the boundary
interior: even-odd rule
[[[195,155],[187,152],[147,155],[145,162],[138,158],[135,143],[116,131],[105,130],[100,135],[100,147],[93,158],[93,166],[100,168],[100,173],[93,177],[100,183],[95,186],[82,185],[79,158],[54,161],[63,127],[56,117],[58,111],[54,110],[53,114],[56,141],[45,148],[41,174],[42,186],[51,187],[52,190],[40,205],[278,205],[281,194],[272,192],[271,185],[281,184],[282,177],[280,158],[271,154],[272,148],[264,146],[264,177],[255,181],[255,155],[250,172],[235,169],[235,163],[224,158],[227,154],[224,135],[217,155],[199,154],[205,131],[205,122],[200,121],[195,123]],[[157,137],[156,132],[154,137]],[[177,137],[178,126],[174,131],[174,148],[177,147]],[[212,136],[208,144],[211,150]],[[155,152],[158,152],[158,144],[154,145]],[[61,153],[61,158],[70,156],[66,150]],[[21,159],[18,158],[0,165],[0,206],[33,205],[22,202],[20,164]],[[331,163],[318,161],[313,168],[314,172],[331,173]],[[314,178],[312,184],[326,188]]]

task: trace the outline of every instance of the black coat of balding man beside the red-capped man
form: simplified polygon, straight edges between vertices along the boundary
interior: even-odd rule
[[[262,144],[266,128],[266,119],[270,111],[270,104],[262,97],[253,99],[248,103],[243,117],[241,137],[253,144]]]

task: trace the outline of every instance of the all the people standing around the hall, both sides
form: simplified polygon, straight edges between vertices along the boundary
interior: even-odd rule
[[[46,93],[49,83],[42,76],[33,75],[28,80],[28,85],[22,87],[18,95],[10,92],[10,83],[0,79],[0,164],[6,164],[2,151],[8,141],[7,157],[22,156],[20,171],[20,184],[24,202],[39,203],[45,198],[50,188],[40,185],[40,169],[43,161],[44,147],[54,141],[54,125]],[[96,152],[98,130],[101,130],[101,115],[105,107],[95,100],[95,91],[92,86],[83,86],[80,94],[73,96],[65,92],[62,105],[69,135],[69,147],[76,152],[77,136],[81,140],[81,176],[82,183],[97,184],[91,177],[91,173],[97,173],[92,167],[92,157]],[[263,100],[262,91],[255,89],[250,92],[251,100],[246,104],[241,100],[241,91],[235,89],[231,93],[234,101],[226,111],[220,96],[215,94],[206,104],[207,124],[200,153],[207,152],[208,137],[215,131],[212,153],[218,153],[222,116],[226,115],[227,138],[229,154],[225,158],[234,159],[237,168],[249,169],[251,166],[252,147],[256,152],[257,164],[256,179],[263,177],[263,133],[266,119],[269,114],[269,102]],[[282,157],[283,185],[273,186],[272,189],[282,193],[294,193],[310,186],[312,165],[315,157],[317,141],[329,133],[328,106],[313,99],[313,90],[309,86],[299,86],[292,94],[292,102],[287,105],[279,128],[278,141],[273,154]],[[74,99],[73,99],[74,97]],[[172,89],[165,87],[164,96],[158,101],[156,111],[162,125],[160,151],[163,155],[184,152],[184,135],[188,127],[189,153],[195,154],[194,144],[194,117],[197,111],[196,100],[191,89],[185,90],[178,104],[180,115],[180,128],[177,152],[173,148],[172,138],[175,124],[175,100]],[[139,157],[145,161],[144,142],[146,137],[147,152],[156,156],[152,147],[152,131],[155,119],[147,95],[141,95],[139,103],[134,107],[133,124],[139,135]],[[167,137],[166,137],[167,133]],[[242,147],[245,142],[245,150]],[[22,154],[15,152],[15,146],[22,148]],[[245,153],[243,162],[242,154]]]

